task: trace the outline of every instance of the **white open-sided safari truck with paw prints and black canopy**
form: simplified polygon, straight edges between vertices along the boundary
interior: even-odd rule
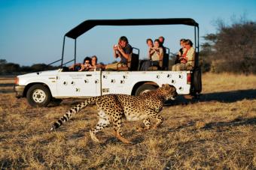
[[[139,71],[139,49],[133,49],[128,67],[120,70],[93,70],[87,72],[68,71],[63,65],[66,37],[76,40],[96,25],[190,25],[194,27],[196,56],[194,70],[169,70],[169,54],[163,57],[162,67]],[[134,52],[136,50],[136,53]],[[167,50],[168,51],[168,50]],[[178,94],[197,96],[202,90],[199,61],[199,25],[194,19],[97,19],[86,20],[64,36],[62,58],[58,70],[27,73],[17,76],[14,91],[16,97],[26,97],[31,106],[47,106],[50,102],[61,102],[65,98],[86,98],[104,94],[139,95],[162,84],[174,85]],[[71,61],[69,61],[71,62]],[[68,62],[68,63],[69,63]],[[52,63],[52,64],[53,64]]]

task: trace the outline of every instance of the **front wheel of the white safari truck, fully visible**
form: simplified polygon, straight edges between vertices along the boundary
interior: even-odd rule
[[[26,99],[31,106],[45,107],[50,103],[50,90],[44,85],[32,85],[26,93]]]

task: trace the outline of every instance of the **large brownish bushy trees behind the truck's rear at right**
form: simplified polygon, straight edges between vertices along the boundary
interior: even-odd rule
[[[231,25],[218,21],[218,32],[206,34],[201,45],[204,71],[256,73],[256,22],[240,20]]]

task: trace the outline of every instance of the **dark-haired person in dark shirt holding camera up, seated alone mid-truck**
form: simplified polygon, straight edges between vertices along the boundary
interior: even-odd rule
[[[105,69],[117,70],[120,67],[128,67],[127,61],[132,55],[133,48],[130,46],[125,36],[120,37],[118,44],[113,46],[114,58],[120,57],[120,61],[114,64],[108,64]]]

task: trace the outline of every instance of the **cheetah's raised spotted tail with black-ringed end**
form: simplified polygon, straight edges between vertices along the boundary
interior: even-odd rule
[[[50,128],[50,131],[56,130],[59,128],[62,124],[64,124],[66,121],[69,121],[70,118],[72,118],[72,115],[75,115],[77,112],[80,112],[81,109],[84,109],[87,105],[92,103],[96,100],[97,97],[90,97],[89,99],[86,99],[84,102],[79,103],[78,105],[72,107],[69,109],[68,112],[66,112],[65,115],[63,115],[61,118],[59,118],[58,121],[56,121],[53,126]]]

